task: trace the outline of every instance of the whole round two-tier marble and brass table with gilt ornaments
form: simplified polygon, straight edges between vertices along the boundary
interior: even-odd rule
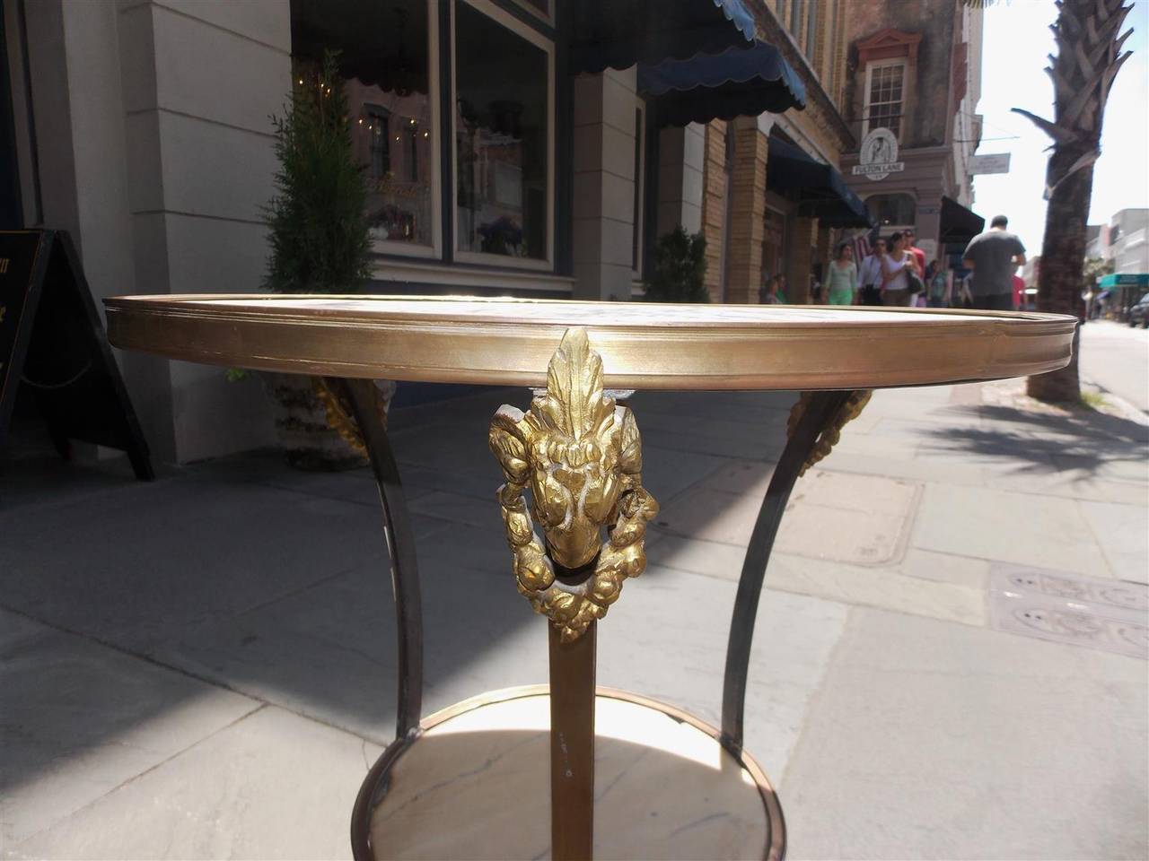
[[[352,812],[356,859],[541,858],[548,848],[561,861],[780,859],[781,807],[743,750],[742,719],[758,596],[795,481],[872,389],[1052,371],[1069,362],[1075,326],[1040,313],[458,297],[133,296],[106,305],[117,347],[311,374],[358,425],[383,502],[400,673],[396,738]],[[373,379],[534,390],[527,410],[495,413],[488,442],[504,479],[492,494],[515,585],[549,620],[549,685],[423,718],[415,544]],[[624,403],[633,389],[801,393],[732,608],[720,728],[595,687],[599,621],[642,573],[658,509]],[[674,620],[664,623],[674,636]]]

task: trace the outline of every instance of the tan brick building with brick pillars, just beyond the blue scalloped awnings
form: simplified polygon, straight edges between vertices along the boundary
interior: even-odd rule
[[[707,286],[717,302],[756,303],[763,284],[785,276],[791,302],[804,302],[832,243],[867,226],[836,166],[856,148],[840,103],[846,82],[846,0],[756,0],[758,37],[774,45],[805,90],[803,110],[716,119],[661,132],[657,232],[674,224],[707,239]],[[771,168],[771,157],[774,163]],[[787,183],[795,166],[816,187]]]

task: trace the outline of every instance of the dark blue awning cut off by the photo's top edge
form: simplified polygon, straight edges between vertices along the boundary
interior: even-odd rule
[[[754,42],[745,0],[579,0],[570,3],[571,71],[629,69]]]

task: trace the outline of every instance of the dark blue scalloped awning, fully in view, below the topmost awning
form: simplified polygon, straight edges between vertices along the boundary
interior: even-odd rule
[[[727,48],[639,67],[639,92],[654,96],[658,125],[756,117],[805,107],[805,87],[778,48]]]

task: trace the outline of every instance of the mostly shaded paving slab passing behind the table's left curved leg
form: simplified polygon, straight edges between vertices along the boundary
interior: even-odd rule
[[[419,573],[424,714],[484,690],[546,681],[546,629],[515,590],[496,532],[448,527],[431,536],[419,543]],[[394,736],[395,643],[387,569],[368,564],[188,628],[153,657],[386,743]]]

